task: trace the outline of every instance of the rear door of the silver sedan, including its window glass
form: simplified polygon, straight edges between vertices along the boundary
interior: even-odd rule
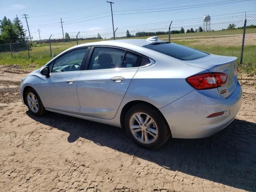
[[[112,119],[124,98],[142,56],[113,47],[94,47],[77,83],[80,114]],[[89,55],[90,55],[89,54]]]

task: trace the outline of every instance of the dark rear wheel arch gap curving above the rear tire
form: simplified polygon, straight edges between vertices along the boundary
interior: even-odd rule
[[[166,118],[164,117],[164,115],[162,114],[162,112],[160,112],[160,110],[159,110],[156,106],[150,104],[149,102],[142,101],[142,100],[130,101],[130,102],[128,102],[128,103],[126,103],[126,104],[124,105],[124,107],[122,108],[121,114],[120,114],[120,125],[121,125],[122,128],[125,127],[124,121],[125,121],[125,116],[126,116],[127,111],[128,111],[132,106],[137,105],[137,104],[145,104],[145,105],[148,105],[148,106],[150,106],[150,107],[152,107],[152,108],[158,110],[158,112],[159,112],[159,113],[162,115],[162,117],[164,118],[166,125],[167,125],[168,128],[170,129],[169,124],[168,124],[168,122],[166,121]],[[170,131],[171,131],[171,129],[170,129]]]

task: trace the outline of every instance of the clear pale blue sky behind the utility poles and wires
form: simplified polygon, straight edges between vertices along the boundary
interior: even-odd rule
[[[183,6],[183,8],[189,8],[191,5],[214,4],[214,2],[224,1],[225,0],[114,0],[112,8],[114,14],[122,14],[165,10],[162,8],[177,9],[174,7],[178,7],[179,9],[181,6]],[[0,5],[1,19],[6,16],[12,20],[17,14],[25,28],[26,21],[22,18],[22,14],[28,14],[30,32],[34,38],[38,36],[38,29],[41,30],[41,36],[43,37],[49,34],[61,34],[62,30],[59,23],[61,17],[64,21],[64,32],[95,31],[112,28],[110,4],[107,3],[106,0],[0,0]],[[205,14],[210,14],[211,16],[254,10],[256,10],[256,0],[183,10],[114,15],[114,26],[115,28],[120,28],[122,26],[157,23],[168,20],[203,18]],[[76,23],[71,24],[72,22]]]

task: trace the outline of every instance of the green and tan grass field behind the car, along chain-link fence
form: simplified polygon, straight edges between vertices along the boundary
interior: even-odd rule
[[[236,56],[240,61],[242,29],[223,30],[214,32],[198,32],[185,34],[171,34],[172,42],[182,44],[198,50],[212,54]],[[240,66],[246,73],[256,72],[256,28],[246,29],[246,42],[244,48],[243,65]],[[168,35],[158,36],[160,39],[167,39]],[[140,37],[140,38],[148,38]],[[120,39],[120,38],[117,38]],[[105,40],[105,39],[103,39]],[[106,39],[109,40],[109,39]],[[96,42],[99,40],[82,40],[79,44]],[[54,56],[60,52],[75,46],[76,42],[52,43],[52,53]],[[16,64],[22,68],[34,69],[44,65],[51,59],[49,44],[34,44],[30,48],[30,58],[28,52],[13,52],[13,58],[10,52],[0,52],[0,64]]]

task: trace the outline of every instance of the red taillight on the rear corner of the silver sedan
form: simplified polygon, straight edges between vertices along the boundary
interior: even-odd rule
[[[228,79],[226,73],[203,73],[186,78],[195,89],[213,89],[223,86]]]

